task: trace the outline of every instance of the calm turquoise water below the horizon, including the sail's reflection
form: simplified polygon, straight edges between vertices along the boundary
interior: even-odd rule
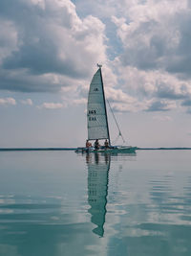
[[[191,255],[191,151],[0,152],[0,255]]]

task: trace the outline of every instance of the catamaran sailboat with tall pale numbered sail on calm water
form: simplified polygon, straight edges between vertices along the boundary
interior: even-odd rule
[[[112,146],[108,125],[108,116],[106,109],[105,93],[102,79],[101,67],[102,65],[97,64],[97,71],[94,75],[88,94],[88,107],[87,107],[87,125],[88,125],[88,140],[103,140],[107,139],[109,147],[100,147],[98,150],[94,147],[90,148],[77,148],[76,152],[90,152],[90,151],[100,151],[100,152],[127,152],[132,153],[137,150],[137,147],[132,146]],[[112,111],[113,115],[114,112]],[[117,124],[116,117],[114,115],[115,122]],[[121,131],[117,125],[119,134],[122,137]],[[122,137],[123,139],[123,137]]]

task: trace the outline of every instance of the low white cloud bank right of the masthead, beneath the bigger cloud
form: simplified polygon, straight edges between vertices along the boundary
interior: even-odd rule
[[[185,99],[191,96],[190,81],[180,81],[168,72],[160,70],[144,71],[132,66],[117,64],[123,90],[141,97],[164,99]]]

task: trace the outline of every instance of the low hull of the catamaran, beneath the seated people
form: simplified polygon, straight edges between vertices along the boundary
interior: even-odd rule
[[[109,152],[109,153],[135,153],[137,150],[137,147],[113,147],[110,149],[99,149],[99,150],[95,150],[94,148],[77,148],[75,152]]]

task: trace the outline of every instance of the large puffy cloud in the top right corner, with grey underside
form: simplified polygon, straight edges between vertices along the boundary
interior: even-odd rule
[[[190,78],[185,67],[191,60],[187,1],[137,1],[124,16],[112,20],[124,47],[123,65],[163,69]]]

